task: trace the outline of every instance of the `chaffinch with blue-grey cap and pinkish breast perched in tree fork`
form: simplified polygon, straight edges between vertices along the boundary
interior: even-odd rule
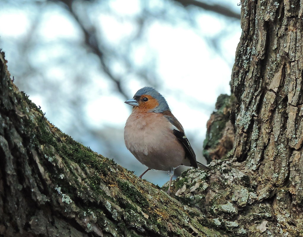
[[[124,103],[132,106],[132,113],[124,127],[126,148],[148,170],[169,172],[169,186],[174,170],[180,165],[210,170],[196,160],[181,123],[171,113],[165,98],[153,87],[143,87]]]

